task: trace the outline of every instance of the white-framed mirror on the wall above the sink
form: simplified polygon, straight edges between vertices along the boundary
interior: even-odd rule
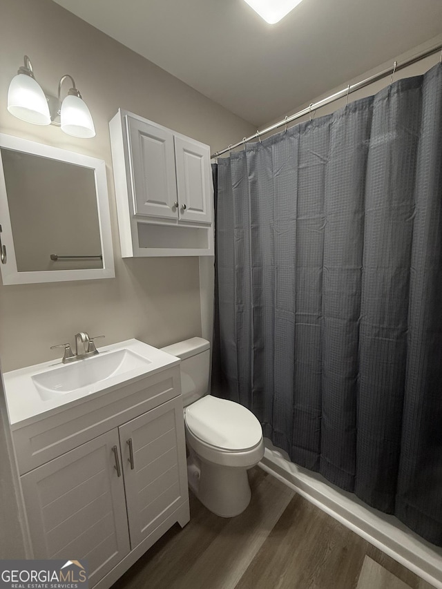
[[[0,133],[3,284],[113,278],[102,160]]]

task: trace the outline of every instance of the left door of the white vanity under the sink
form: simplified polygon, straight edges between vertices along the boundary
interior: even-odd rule
[[[90,586],[129,552],[117,428],[21,476],[36,559],[87,559]]]

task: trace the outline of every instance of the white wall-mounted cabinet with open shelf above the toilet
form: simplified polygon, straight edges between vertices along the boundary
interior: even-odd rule
[[[213,255],[209,146],[121,109],[109,129],[123,257]]]

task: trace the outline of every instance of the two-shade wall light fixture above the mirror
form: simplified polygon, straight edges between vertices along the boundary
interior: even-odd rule
[[[61,102],[61,85],[67,78],[70,78],[73,87],[68,90],[67,96]],[[8,111],[18,119],[35,125],[61,126],[61,131],[73,137],[95,137],[92,116],[75,86],[73,77],[68,74],[61,77],[58,84],[57,109],[51,117],[48,97],[37,83],[27,55],[24,57],[24,66],[19,68],[10,83]],[[58,116],[60,122],[55,121]]]

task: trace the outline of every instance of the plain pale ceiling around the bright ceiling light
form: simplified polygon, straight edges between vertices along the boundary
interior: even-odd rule
[[[259,128],[441,33],[441,0],[55,0]]]

